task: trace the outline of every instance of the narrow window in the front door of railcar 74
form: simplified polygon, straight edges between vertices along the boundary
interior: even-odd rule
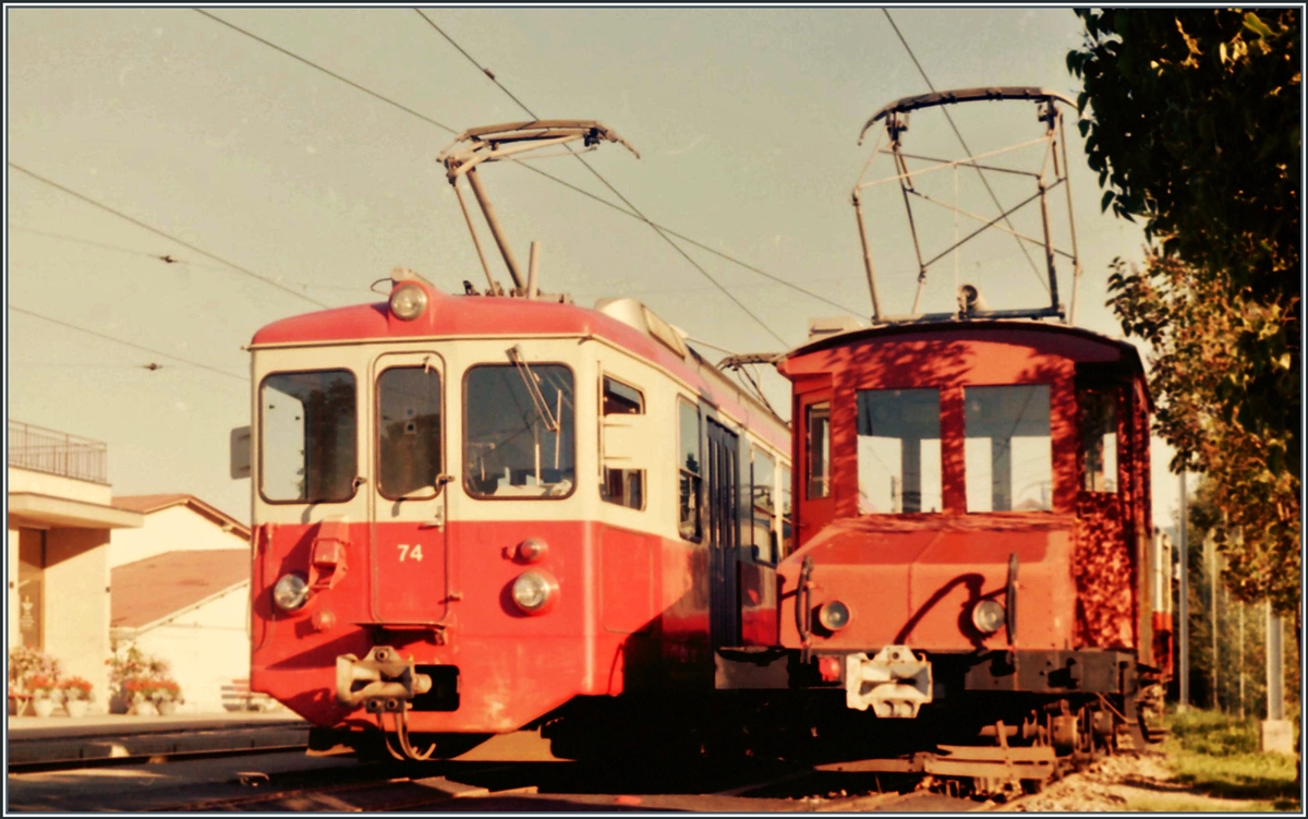
[[[441,374],[396,366],[377,377],[377,489],[436,497],[441,474]]]

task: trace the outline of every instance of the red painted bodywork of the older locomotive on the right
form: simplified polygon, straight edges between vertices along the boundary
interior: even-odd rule
[[[1079,366],[1110,368],[1127,385],[1118,410],[1116,493],[1080,489]],[[798,580],[812,559],[814,608],[840,599],[852,612],[836,633],[816,629],[808,648],[922,650],[1006,648],[1001,628],[972,625],[981,598],[1003,602],[1008,555],[1019,559],[1020,648],[1139,649],[1152,662],[1154,618],[1144,618],[1148,512],[1148,395],[1134,348],[1095,334],[1036,322],[959,322],[878,327],[793,352],[793,449],[799,551],[778,574],[781,642],[800,648]],[[1052,512],[968,513],[964,453],[967,386],[1049,385]],[[863,389],[940,391],[942,510],[858,510],[855,394]],[[804,497],[803,411],[829,400],[832,493]],[[1143,532],[1143,534],[1141,534]]]

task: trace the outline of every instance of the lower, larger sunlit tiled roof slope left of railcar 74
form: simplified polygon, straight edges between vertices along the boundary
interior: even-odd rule
[[[246,549],[164,552],[110,573],[110,627],[140,628],[250,580]]]

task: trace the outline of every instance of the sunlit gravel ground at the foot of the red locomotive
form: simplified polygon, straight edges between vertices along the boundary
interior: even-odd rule
[[[1248,811],[1252,802],[1220,799],[1194,793],[1173,781],[1167,755],[1146,751],[1141,756],[1109,756],[1079,773],[1053,782],[1041,793],[997,806],[998,811],[1065,812],[1156,810],[1142,806],[1165,799],[1173,810]]]

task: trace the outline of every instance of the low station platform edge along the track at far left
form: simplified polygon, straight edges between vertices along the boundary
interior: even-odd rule
[[[309,722],[290,712],[9,717],[7,727],[9,767],[251,748],[273,751],[301,747],[309,741]]]

